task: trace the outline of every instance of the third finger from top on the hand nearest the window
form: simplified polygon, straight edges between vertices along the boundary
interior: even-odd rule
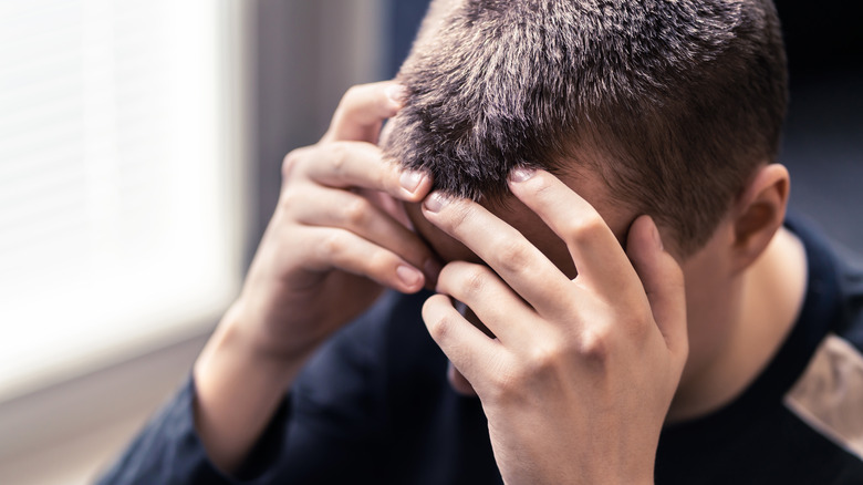
[[[412,230],[368,199],[346,190],[306,189],[283,202],[301,224],[337,227],[399,256],[420,268],[426,281],[436,281],[440,264],[428,246]]]

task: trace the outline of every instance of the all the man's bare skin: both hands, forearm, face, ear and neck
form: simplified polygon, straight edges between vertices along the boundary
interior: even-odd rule
[[[506,210],[428,196],[375,146],[397,110],[393,83],[352,89],[321,142],[285,157],[243,290],[195,364],[210,458],[235,469],[308,358],[385,287],[434,286],[423,319],[481,400],[507,483],[651,483],[663,424],[734,399],[793,322],[788,173],[759,168],[680,261],[590,175],[513,173]]]

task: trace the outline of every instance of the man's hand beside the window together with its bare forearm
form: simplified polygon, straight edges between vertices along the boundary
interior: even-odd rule
[[[196,426],[223,471],[242,462],[309,355],[384,287],[434,287],[440,266],[402,208],[432,180],[376,146],[399,107],[393,82],[352,87],[323,138],[284,158],[241,295],[195,364]]]

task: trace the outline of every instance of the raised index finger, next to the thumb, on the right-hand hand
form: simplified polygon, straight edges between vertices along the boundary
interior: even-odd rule
[[[626,254],[602,216],[579,194],[544,171],[518,168],[509,186],[566,244],[580,282],[610,297],[632,288],[636,275]]]

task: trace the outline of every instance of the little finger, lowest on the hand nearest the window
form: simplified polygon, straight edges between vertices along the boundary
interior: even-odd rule
[[[311,271],[341,269],[371,278],[397,291],[413,293],[425,283],[423,272],[391,250],[344,229],[309,227],[305,267]]]

